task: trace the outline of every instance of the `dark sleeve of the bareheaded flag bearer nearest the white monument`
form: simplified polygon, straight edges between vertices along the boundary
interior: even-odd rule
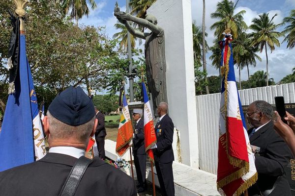
[[[173,142],[173,130],[174,130],[174,124],[172,120],[169,118],[167,123],[165,124],[164,128],[164,139],[161,140],[160,142],[157,142],[157,150],[161,151],[164,149],[167,149],[172,146]]]

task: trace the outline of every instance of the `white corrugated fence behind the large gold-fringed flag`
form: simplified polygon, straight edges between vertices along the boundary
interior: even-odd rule
[[[283,96],[285,103],[295,102],[295,83],[245,89],[239,91],[242,105],[255,100],[274,104],[274,97]],[[217,148],[220,93],[196,96],[199,139],[199,167],[201,170],[217,173]]]

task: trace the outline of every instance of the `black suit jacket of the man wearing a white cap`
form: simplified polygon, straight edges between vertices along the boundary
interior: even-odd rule
[[[141,118],[134,128],[133,150],[135,154],[145,154],[144,120]]]

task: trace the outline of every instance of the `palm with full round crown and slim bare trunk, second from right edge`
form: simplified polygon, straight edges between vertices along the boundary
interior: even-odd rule
[[[260,52],[263,51],[263,48],[266,49],[266,86],[268,86],[268,57],[267,57],[267,46],[270,48],[272,52],[275,49],[275,46],[280,47],[280,42],[278,38],[283,36],[282,33],[275,31],[282,24],[275,25],[273,23],[275,14],[271,20],[269,20],[268,13],[263,13],[259,15],[259,18],[255,18],[252,20],[252,24],[249,26],[254,32],[250,33],[250,37],[252,39],[251,46],[259,47]]]

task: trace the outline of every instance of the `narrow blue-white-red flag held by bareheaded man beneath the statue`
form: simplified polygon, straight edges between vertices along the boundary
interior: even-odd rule
[[[143,89],[143,97],[144,97],[144,131],[145,131],[145,147],[146,147],[146,152],[148,154],[149,160],[154,162],[154,156],[152,153],[152,147],[154,144],[156,144],[157,139],[156,139],[156,134],[155,134],[155,129],[153,125],[153,116],[149,104],[149,99],[148,99],[148,93],[146,89],[146,85],[144,82],[142,82],[142,89]]]

